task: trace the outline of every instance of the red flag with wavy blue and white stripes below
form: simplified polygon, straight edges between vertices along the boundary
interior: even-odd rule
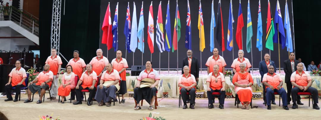
[[[165,51],[164,48],[164,28],[163,28],[163,17],[161,12],[161,1],[160,5],[158,5],[158,14],[156,20],[156,44],[160,53]]]

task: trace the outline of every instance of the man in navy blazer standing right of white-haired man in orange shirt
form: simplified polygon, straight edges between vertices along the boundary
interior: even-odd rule
[[[275,67],[275,64],[274,64],[274,61],[270,60],[270,54],[268,53],[265,53],[264,55],[264,59],[263,61],[260,62],[259,64],[259,71],[260,71],[260,74],[261,74],[261,82],[263,80],[263,76],[265,73],[268,73],[268,66],[273,66],[274,68]],[[276,69],[274,69],[274,73],[276,72]],[[265,85],[263,84],[263,104],[265,104]],[[272,99],[271,99],[271,104],[275,105],[275,96],[272,96]]]

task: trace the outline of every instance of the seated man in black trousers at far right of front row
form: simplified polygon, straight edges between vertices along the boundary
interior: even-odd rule
[[[313,99],[313,109],[320,109],[318,107],[318,90],[311,87],[312,81],[310,74],[306,74],[303,71],[303,64],[298,63],[297,65],[297,71],[293,72],[291,74],[291,83],[294,86],[291,90],[291,96],[292,96],[292,102],[293,106],[292,109],[298,108],[298,105],[296,104],[297,101],[297,94],[298,92],[309,92],[312,94]]]

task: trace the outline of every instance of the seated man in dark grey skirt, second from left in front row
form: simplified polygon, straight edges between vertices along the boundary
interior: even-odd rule
[[[37,91],[40,93],[39,100],[37,104],[42,103],[41,98],[45,94],[46,90],[50,88],[52,79],[54,77],[54,73],[49,71],[50,65],[45,64],[43,69],[45,71],[40,72],[37,78],[28,84],[28,99],[24,101],[24,103],[32,102],[31,93],[35,94]]]

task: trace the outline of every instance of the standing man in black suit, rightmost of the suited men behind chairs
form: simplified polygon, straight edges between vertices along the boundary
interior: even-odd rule
[[[297,70],[297,65],[299,63],[298,60],[295,59],[295,54],[293,52],[290,53],[290,59],[285,60],[284,62],[284,73],[285,73],[285,83],[286,83],[286,89],[287,89],[287,96],[288,96],[288,105],[291,101],[291,90],[292,90],[292,83],[291,83],[291,74]],[[297,98],[297,104],[303,105],[301,103],[301,97],[298,95]]]

